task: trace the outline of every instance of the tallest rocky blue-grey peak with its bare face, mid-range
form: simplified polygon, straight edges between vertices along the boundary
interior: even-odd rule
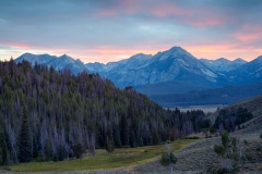
[[[85,64],[111,79],[117,86],[141,86],[171,80],[201,80],[204,84],[219,84],[225,80],[217,73],[180,47],[158,52],[155,55],[136,54],[130,59],[108,64]]]

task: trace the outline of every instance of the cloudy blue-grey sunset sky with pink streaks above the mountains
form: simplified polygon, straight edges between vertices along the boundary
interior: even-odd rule
[[[262,54],[261,0],[0,0],[0,60],[25,52],[111,62],[179,46],[215,60]]]

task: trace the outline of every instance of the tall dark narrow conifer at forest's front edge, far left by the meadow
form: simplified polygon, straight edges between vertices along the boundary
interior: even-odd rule
[[[32,160],[32,142],[29,136],[29,125],[27,121],[26,109],[23,107],[22,127],[20,133],[19,144],[19,160],[20,162],[29,162]]]

